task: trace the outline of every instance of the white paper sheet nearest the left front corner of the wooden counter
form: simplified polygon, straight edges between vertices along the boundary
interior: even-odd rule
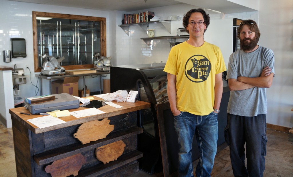
[[[55,118],[52,115],[47,115],[43,117],[28,119],[28,122],[32,123],[33,125],[39,127],[39,128],[45,128],[50,127],[53,125],[58,125],[62,123],[66,123],[64,120]]]

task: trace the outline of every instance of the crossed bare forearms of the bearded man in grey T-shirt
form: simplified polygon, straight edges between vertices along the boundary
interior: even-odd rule
[[[271,68],[265,67],[259,77],[239,76],[237,79],[228,79],[229,89],[230,91],[238,91],[253,87],[269,88],[274,77],[274,74],[271,72]]]

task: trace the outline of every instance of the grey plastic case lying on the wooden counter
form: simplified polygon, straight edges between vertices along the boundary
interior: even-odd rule
[[[55,100],[47,101],[44,103],[29,104],[25,103],[25,106],[28,107],[30,113],[46,113],[54,110],[67,110],[79,108],[79,99],[74,96],[69,95],[68,93],[59,93],[52,94],[55,96]]]

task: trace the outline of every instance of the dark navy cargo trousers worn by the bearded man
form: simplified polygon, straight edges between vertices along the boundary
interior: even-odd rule
[[[228,113],[230,158],[234,176],[262,177],[265,171],[266,116],[245,117]],[[245,167],[245,148],[247,168]]]

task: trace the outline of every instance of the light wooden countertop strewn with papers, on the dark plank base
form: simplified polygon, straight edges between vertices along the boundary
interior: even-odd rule
[[[116,101],[114,101],[114,103],[116,103]],[[129,103],[129,102],[123,102],[123,103]],[[72,126],[72,125],[78,125],[78,124],[82,124],[84,122],[89,122],[89,121],[93,121],[93,120],[100,120],[100,119],[107,118],[107,117],[112,117],[112,116],[115,116],[115,115],[130,113],[130,112],[133,112],[133,111],[149,108],[151,106],[151,103],[147,103],[147,102],[144,102],[144,101],[137,101],[137,102],[131,103],[131,104],[133,104],[133,106],[130,107],[130,108],[114,108],[112,106],[105,105],[105,106],[103,106],[104,108],[103,107],[99,108],[99,110],[104,111],[105,113],[98,114],[98,115],[87,116],[87,117],[83,117],[83,118],[75,118],[72,115],[67,116],[67,117],[61,117],[59,119],[64,120],[66,123],[62,123],[62,124],[58,124],[58,125],[54,125],[54,126],[50,126],[50,127],[45,127],[45,128],[39,128],[39,127],[33,125],[32,123],[28,122],[27,121],[28,119],[37,118],[37,117],[40,117],[40,115],[33,115],[33,117],[28,118],[28,116],[31,116],[31,115],[20,114],[20,112],[30,113],[28,110],[23,110],[24,107],[21,107],[22,109],[21,108],[11,108],[11,109],[9,109],[9,113],[11,114],[11,119],[16,119],[22,125],[24,125],[26,128],[28,128],[29,130],[31,130],[32,132],[37,134],[37,133],[48,132],[48,131],[51,131],[51,130],[57,130],[57,129],[64,128],[64,127],[69,127],[69,126]],[[80,108],[69,109],[69,112],[86,109],[86,108],[81,108],[81,109]],[[111,109],[111,111],[107,111],[107,110],[110,110],[110,109]],[[23,119],[23,118],[25,118],[25,119]],[[70,118],[72,120],[68,121],[68,119],[70,119]]]

